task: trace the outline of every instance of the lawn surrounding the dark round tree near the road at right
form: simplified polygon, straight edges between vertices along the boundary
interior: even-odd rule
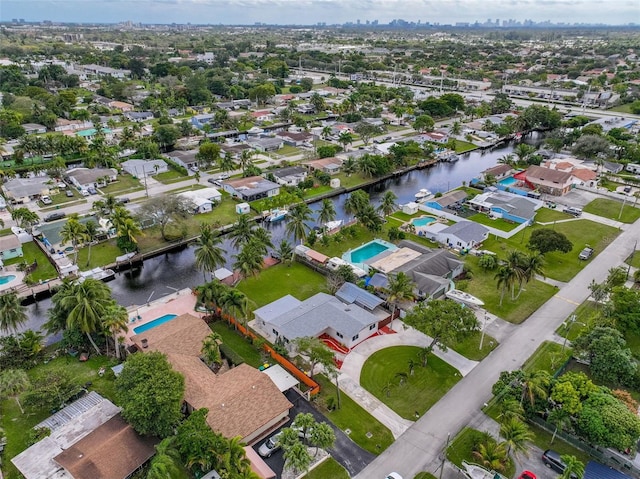
[[[525,228],[522,232],[509,239],[496,239],[494,236],[490,236],[482,246],[484,249],[497,253],[501,258],[505,258],[511,250],[528,252],[526,245],[529,237],[538,228],[555,229],[563,233],[573,243],[573,249],[568,253],[553,252],[545,254],[545,275],[558,281],[569,281],[588,264],[587,261],[581,261],[578,258],[585,244],[590,245],[595,250],[595,253],[598,254],[620,234],[620,230],[611,226],[589,220],[576,220],[557,223],[553,226],[536,224],[530,228]]]

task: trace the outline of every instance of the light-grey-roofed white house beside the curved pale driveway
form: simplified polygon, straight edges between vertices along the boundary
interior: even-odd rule
[[[377,298],[379,300],[379,298]],[[258,308],[255,325],[270,338],[282,341],[292,349],[291,342],[306,336],[333,338],[352,348],[378,330],[378,323],[386,319],[357,304],[344,303],[326,293],[300,301],[291,295]]]

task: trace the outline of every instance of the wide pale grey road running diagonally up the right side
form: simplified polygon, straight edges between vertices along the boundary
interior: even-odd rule
[[[520,367],[544,340],[552,339],[555,329],[588,297],[587,286],[591,280],[603,281],[609,268],[621,264],[629,256],[638,238],[640,221],[630,225],[605,251],[559,289],[356,478],[382,477],[389,471],[412,478],[423,470],[435,471],[447,434],[453,438],[467,424],[482,423],[484,414],[480,408],[491,398],[491,386],[500,371]]]

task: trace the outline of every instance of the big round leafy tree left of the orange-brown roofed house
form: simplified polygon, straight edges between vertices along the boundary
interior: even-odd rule
[[[173,433],[182,417],[184,378],[164,354],[130,356],[115,386],[122,417],[139,434],[164,438]]]

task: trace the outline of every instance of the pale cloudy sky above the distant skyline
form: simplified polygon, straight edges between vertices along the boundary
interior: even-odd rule
[[[0,20],[311,25],[402,18],[640,24],[639,0],[1,0]]]

